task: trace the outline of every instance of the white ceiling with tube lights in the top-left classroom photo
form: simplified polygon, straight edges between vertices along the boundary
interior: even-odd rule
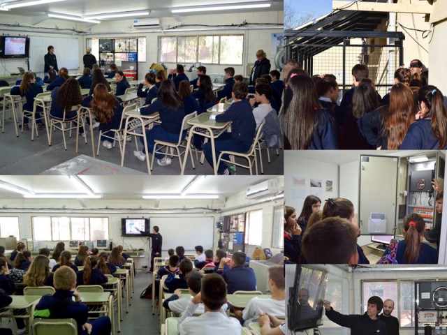
[[[265,0],[133,0],[131,3],[127,3],[122,0],[65,0],[54,3],[45,3],[36,6],[28,6],[22,8],[13,8],[8,12],[11,15],[24,15],[29,17],[45,15],[47,12],[59,13],[65,15],[96,15],[101,13],[119,13],[135,10],[151,10],[151,13],[147,17],[170,17],[173,16],[170,13],[170,9],[184,8],[189,6],[216,6],[229,3],[249,3],[249,2],[265,2]],[[0,3],[12,2],[10,0],[0,0]],[[284,0],[270,0],[272,6],[270,9],[238,9],[238,10],[225,10],[221,13],[251,13],[253,11],[265,11],[265,10],[284,10]],[[130,5],[130,6],[129,6]],[[182,16],[198,15],[200,13],[182,13]],[[133,19],[133,17],[131,17]],[[112,19],[119,20],[119,19]]]

